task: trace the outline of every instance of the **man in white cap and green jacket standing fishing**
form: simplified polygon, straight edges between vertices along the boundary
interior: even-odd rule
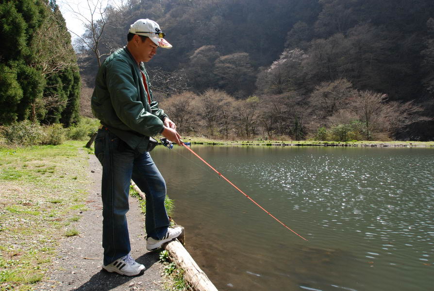
[[[172,47],[164,36],[160,26],[150,19],[134,22],[127,46],[100,66],[92,95],[92,112],[101,122],[95,155],[102,165],[102,268],[121,275],[134,276],[145,269],[130,255],[125,214],[129,210],[131,179],[146,194],[146,248],[159,248],[181,234],[181,227],[168,227],[166,183],[149,154],[155,145],[150,137],[158,134],[182,145],[176,125],[152,98],[143,65],[158,47]]]

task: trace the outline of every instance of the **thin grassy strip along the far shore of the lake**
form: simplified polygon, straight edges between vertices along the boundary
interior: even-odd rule
[[[352,141],[352,142],[329,142],[329,141],[292,141],[292,140],[219,140],[204,137],[183,136],[184,142],[203,145],[233,145],[233,146],[434,146],[434,142],[415,141]]]

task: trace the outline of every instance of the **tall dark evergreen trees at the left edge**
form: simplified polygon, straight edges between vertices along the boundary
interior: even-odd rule
[[[79,119],[80,74],[55,0],[0,0],[0,125]]]

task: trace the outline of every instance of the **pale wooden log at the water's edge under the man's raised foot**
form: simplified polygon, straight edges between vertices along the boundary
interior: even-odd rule
[[[217,291],[216,286],[200,269],[184,246],[178,240],[167,242],[164,248],[169,252],[176,266],[184,270],[184,279],[195,291]]]

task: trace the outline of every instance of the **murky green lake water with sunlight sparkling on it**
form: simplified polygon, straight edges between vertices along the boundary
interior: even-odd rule
[[[434,149],[196,146],[152,157],[220,291],[434,290]]]

